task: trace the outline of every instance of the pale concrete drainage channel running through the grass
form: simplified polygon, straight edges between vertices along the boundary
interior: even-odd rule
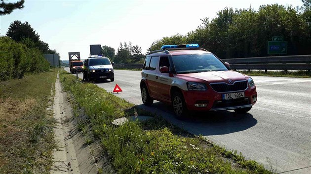
[[[53,151],[51,174],[97,174],[99,171],[115,173],[100,142],[87,145],[83,133],[78,131],[67,93],[62,90],[59,81],[59,74],[55,83],[53,111],[58,148]]]

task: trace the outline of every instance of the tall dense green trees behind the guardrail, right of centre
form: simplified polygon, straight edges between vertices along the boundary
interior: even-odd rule
[[[287,55],[311,54],[311,0],[302,0],[302,7],[278,4],[235,9],[226,7],[212,20],[186,35],[175,34],[156,40],[148,51],[162,45],[198,43],[219,58],[264,57],[268,55],[268,41],[281,36],[287,41]]]

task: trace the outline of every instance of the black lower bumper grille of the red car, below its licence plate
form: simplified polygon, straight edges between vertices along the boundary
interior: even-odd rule
[[[243,106],[243,105],[248,105],[248,104],[250,104],[250,100],[247,97],[231,99],[231,100],[218,100],[214,102],[213,109]]]

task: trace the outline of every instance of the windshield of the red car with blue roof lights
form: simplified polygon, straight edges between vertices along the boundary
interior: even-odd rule
[[[177,74],[228,70],[213,54],[178,55],[172,59]]]

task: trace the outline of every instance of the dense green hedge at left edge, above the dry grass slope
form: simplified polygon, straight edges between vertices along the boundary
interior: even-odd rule
[[[48,70],[49,63],[38,49],[27,48],[9,37],[0,37],[0,81]]]

